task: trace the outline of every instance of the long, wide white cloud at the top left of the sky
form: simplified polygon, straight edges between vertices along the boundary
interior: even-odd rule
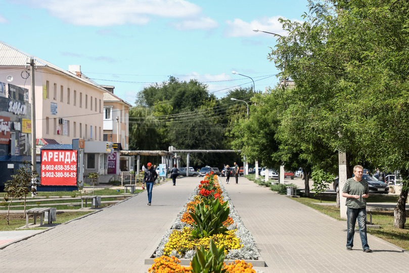
[[[185,0],[20,0],[74,25],[147,24],[151,17],[193,18],[201,7]]]

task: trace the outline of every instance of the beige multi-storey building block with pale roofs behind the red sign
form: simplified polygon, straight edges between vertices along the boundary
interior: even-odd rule
[[[113,152],[113,149],[107,147],[112,147],[111,140],[117,142],[117,127],[114,128],[117,116],[120,142],[123,148],[128,147],[130,105],[83,75],[79,65],[69,65],[68,70],[64,70],[0,41],[0,83],[4,83],[6,97],[9,96],[9,86],[12,84],[27,90],[26,93],[23,91],[24,99],[31,102],[31,58],[35,64],[37,153],[42,143],[72,144],[73,139],[83,139],[83,174],[107,174],[108,154]],[[112,108],[111,116],[114,119],[109,140],[109,133],[106,139],[104,137],[107,116],[104,96],[107,96],[107,107]],[[82,181],[80,177],[78,180]]]

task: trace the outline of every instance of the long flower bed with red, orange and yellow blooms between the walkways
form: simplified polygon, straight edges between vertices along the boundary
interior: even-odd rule
[[[211,210],[209,208],[213,208],[215,212],[209,212]],[[200,218],[202,216],[203,219],[207,219],[208,215],[212,213],[217,214],[213,217],[212,223],[220,220],[217,218],[220,215],[225,219],[222,222],[220,220],[219,232],[214,234],[212,233],[214,228],[202,226]],[[207,232],[211,234],[207,234]],[[233,271],[232,268],[239,266],[238,264],[244,266],[240,268],[247,268],[248,272],[251,272],[251,264],[246,267],[249,262],[256,266],[265,266],[264,261],[260,260],[251,233],[245,228],[231,203],[230,197],[224,191],[223,185],[218,184],[216,175],[205,176],[205,179],[201,181],[186,206],[177,215],[171,229],[163,236],[150,259],[151,262],[146,260],[146,263],[152,264],[152,258],[156,258],[155,264],[161,263],[164,259],[172,259],[173,266],[179,263],[189,265],[197,248],[203,247],[204,250],[209,250],[210,240],[217,248],[224,246],[225,262],[230,262],[231,266],[229,267],[231,270],[228,272]],[[166,256],[167,258],[164,258]]]

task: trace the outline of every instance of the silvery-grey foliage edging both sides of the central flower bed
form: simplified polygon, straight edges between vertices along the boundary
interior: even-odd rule
[[[226,263],[234,262],[234,260],[244,260],[247,263],[251,263],[253,266],[262,267],[265,266],[264,260],[261,259],[260,253],[258,252],[254,238],[251,235],[250,231],[244,226],[243,221],[241,220],[239,214],[236,212],[234,205],[229,197],[229,194],[226,193],[224,186],[222,183],[219,183],[222,192],[222,197],[224,201],[229,201],[230,207],[230,214],[229,216],[233,218],[234,225],[229,227],[229,230],[237,228],[235,235],[239,238],[244,245],[241,249],[230,250],[230,252],[226,255],[226,259],[224,260]],[[193,191],[192,196],[188,199],[187,203],[194,201],[195,196],[199,193],[199,186]],[[154,259],[163,255],[163,248],[165,244],[169,241],[169,236],[174,229],[183,229],[185,226],[190,226],[189,224],[182,222],[181,219],[183,214],[186,212],[187,208],[184,208],[179,212],[176,216],[175,221],[173,222],[171,228],[165,232],[165,235],[162,237],[158,247],[154,251],[154,253],[148,259],[145,259],[145,264],[153,264]],[[237,226],[236,226],[237,225]],[[184,257],[180,257],[176,251],[172,251],[170,254],[171,256],[175,256],[180,260],[181,265],[189,265],[191,259],[195,255],[195,250],[190,250],[186,253]]]

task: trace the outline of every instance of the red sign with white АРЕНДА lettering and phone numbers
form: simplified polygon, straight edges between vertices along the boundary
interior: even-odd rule
[[[41,185],[77,185],[77,150],[41,150]]]

